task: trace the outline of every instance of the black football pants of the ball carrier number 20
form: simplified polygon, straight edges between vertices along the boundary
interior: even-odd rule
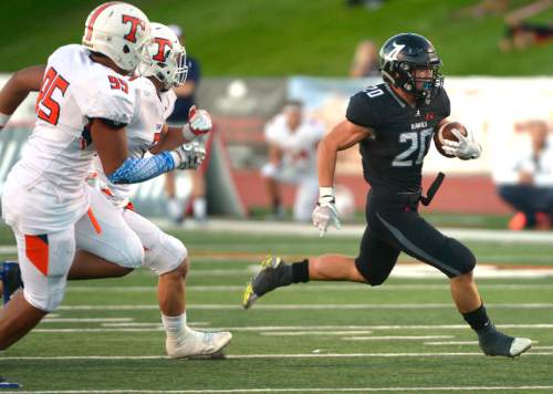
[[[369,284],[382,284],[388,278],[401,251],[449,278],[474,268],[474,255],[465,245],[446,237],[418,215],[419,197],[419,194],[369,193],[367,227],[355,260]]]

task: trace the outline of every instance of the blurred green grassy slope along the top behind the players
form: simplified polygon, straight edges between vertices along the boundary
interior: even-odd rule
[[[510,7],[533,0],[511,0]],[[80,42],[88,12],[101,0],[3,1],[1,71],[43,63],[63,44]],[[428,35],[446,75],[551,75],[551,45],[502,53],[503,15],[456,17],[481,0],[387,0],[367,12],[345,0],[133,0],[150,20],[180,23],[187,51],[207,76],[346,76],[355,45],[380,45],[393,34]],[[553,10],[532,21],[546,22]]]

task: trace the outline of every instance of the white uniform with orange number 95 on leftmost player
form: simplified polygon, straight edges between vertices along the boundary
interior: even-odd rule
[[[129,123],[135,101],[132,84],[93,62],[84,46],[61,46],[50,55],[33,133],[2,194],[2,216],[18,241],[24,296],[35,308],[51,311],[63,299],[75,248],[86,249],[80,228],[100,230],[109,221],[104,235],[118,231],[129,237],[117,248],[118,263],[142,263],[136,235],[123,220],[111,220],[113,206],[85,183],[94,157],[85,126],[95,117]],[[98,256],[111,260],[113,253],[106,249]]]

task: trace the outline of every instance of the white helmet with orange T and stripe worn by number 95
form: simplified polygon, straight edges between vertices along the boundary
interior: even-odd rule
[[[83,45],[133,72],[149,39],[148,17],[136,7],[118,1],[96,7],[86,18]]]

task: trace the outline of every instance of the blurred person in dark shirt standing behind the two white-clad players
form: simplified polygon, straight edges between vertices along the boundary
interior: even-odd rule
[[[179,38],[179,41],[185,45],[185,34],[182,29],[177,24],[170,24],[169,28]],[[198,61],[187,53],[188,75],[182,86],[176,87],[177,101],[175,110],[167,120],[171,126],[180,126],[188,122],[188,111],[196,104],[196,90],[200,83],[200,65]],[[207,163],[205,163],[207,165]],[[204,165],[204,166],[205,166]],[[198,169],[189,172],[192,179],[192,212],[194,218],[198,221],[206,220],[207,201],[206,201],[206,182],[204,179],[205,170]],[[166,174],[165,191],[168,198],[169,216],[173,220],[180,222],[185,219],[186,209],[184,201],[177,198],[175,172]]]

